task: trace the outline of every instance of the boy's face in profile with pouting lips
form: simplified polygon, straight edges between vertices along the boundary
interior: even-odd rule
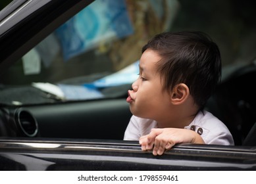
[[[170,95],[163,90],[163,81],[157,72],[157,62],[161,57],[147,49],[140,58],[140,76],[128,91],[126,101],[130,103],[132,114],[140,118],[157,120],[170,106]]]

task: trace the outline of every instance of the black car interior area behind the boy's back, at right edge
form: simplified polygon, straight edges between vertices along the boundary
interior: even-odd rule
[[[230,129],[235,145],[256,145],[255,89],[249,87],[255,77],[254,62],[237,68],[222,80],[207,103],[206,108]]]

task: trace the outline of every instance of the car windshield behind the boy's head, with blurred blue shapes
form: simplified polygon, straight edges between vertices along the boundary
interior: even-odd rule
[[[9,68],[0,79],[0,103],[126,97],[141,47],[165,31],[207,32],[220,45],[224,68],[251,62],[255,47],[244,47],[256,43],[253,16],[245,14],[251,7],[232,2],[94,1]]]

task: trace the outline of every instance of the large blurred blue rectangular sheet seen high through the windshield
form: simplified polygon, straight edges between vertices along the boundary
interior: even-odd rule
[[[64,60],[68,60],[103,41],[133,32],[125,0],[97,0],[60,26],[55,34],[61,41]]]

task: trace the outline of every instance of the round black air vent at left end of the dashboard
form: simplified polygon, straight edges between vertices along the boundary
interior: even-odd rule
[[[16,113],[16,120],[22,133],[28,137],[36,136],[38,133],[38,122],[36,122],[36,119],[32,114],[30,114],[30,112],[26,110],[18,110]]]

